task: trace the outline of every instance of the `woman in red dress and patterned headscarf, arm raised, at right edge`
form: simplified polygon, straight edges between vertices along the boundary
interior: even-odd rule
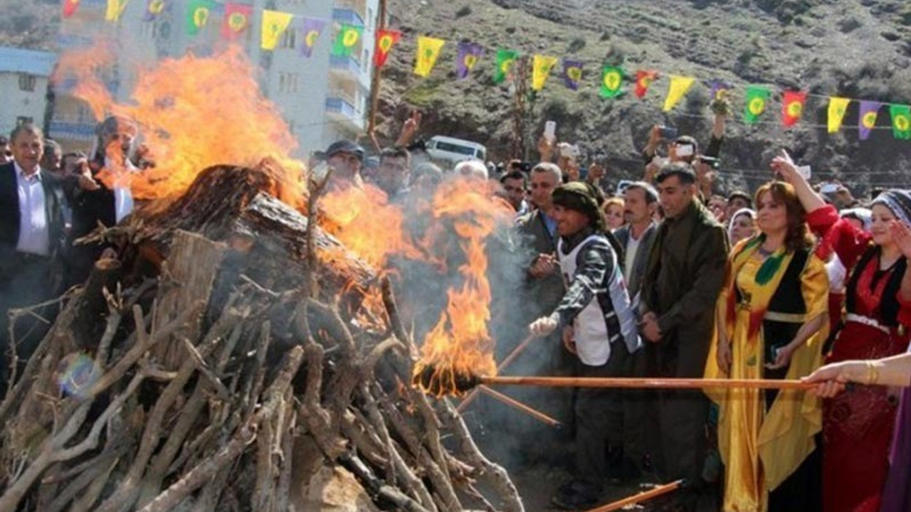
[[[773,162],[792,183],[820,237],[820,251],[834,251],[848,269],[844,328],[826,363],[880,359],[903,353],[911,327],[911,248],[902,236],[911,226],[911,193],[888,190],[873,203],[872,232],[858,230],[825,205],[789,158]],[[897,392],[861,386],[826,401],[823,413],[824,512],[876,512],[888,471]]]

